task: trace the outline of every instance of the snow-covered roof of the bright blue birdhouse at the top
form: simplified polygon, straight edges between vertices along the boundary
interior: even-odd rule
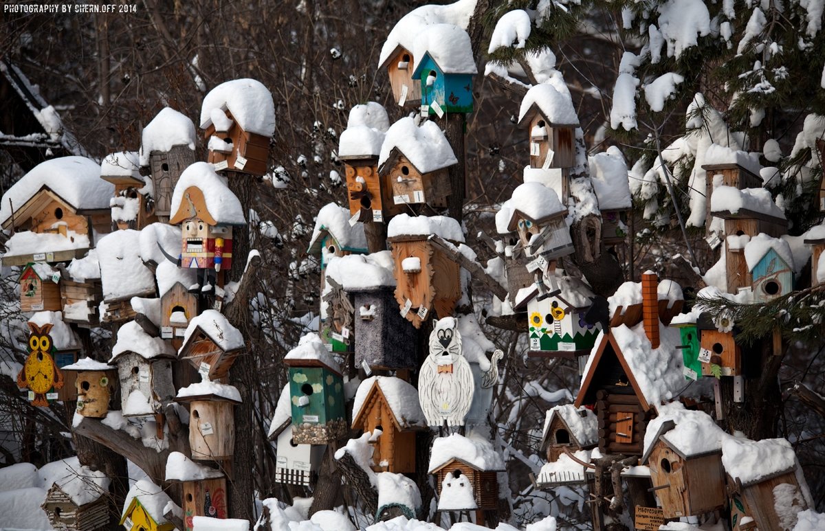
[[[417,35],[413,41],[413,77],[418,77],[425,54],[443,73],[479,73],[469,35],[459,26],[432,24]]]

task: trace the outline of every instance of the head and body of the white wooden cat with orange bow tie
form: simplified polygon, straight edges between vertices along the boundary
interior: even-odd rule
[[[454,317],[439,319],[430,334],[430,355],[418,375],[418,402],[427,425],[464,425],[473,403],[473,371],[461,352]]]

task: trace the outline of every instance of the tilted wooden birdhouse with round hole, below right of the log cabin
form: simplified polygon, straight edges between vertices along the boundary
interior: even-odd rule
[[[677,404],[662,409],[648,426],[656,434],[645,445],[641,463],[650,468],[664,517],[722,509],[728,501],[722,468],[726,434],[703,411],[686,411]]]

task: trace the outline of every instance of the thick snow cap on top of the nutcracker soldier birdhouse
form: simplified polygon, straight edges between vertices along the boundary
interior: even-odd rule
[[[216,223],[227,225],[245,225],[247,223],[243,217],[243,207],[240,200],[238,200],[238,196],[234,195],[232,190],[229,190],[226,178],[219,176],[214,171],[214,166],[209,162],[195,162],[181,173],[181,178],[177,181],[175,191],[172,193],[170,211],[173,217],[177,218],[178,209],[188,207],[188,205],[181,205],[181,202],[190,186],[195,186],[203,193],[206,209]],[[195,213],[191,214],[191,217],[196,215]]]

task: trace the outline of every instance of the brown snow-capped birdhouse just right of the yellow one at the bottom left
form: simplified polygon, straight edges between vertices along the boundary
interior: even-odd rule
[[[195,463],[180,452],[171,452],[166,459],[166,481],[180,483],[183,496],[181,531],[192,531],[196,516],[224,519],[227,511],[226,478],[224,472]]]

